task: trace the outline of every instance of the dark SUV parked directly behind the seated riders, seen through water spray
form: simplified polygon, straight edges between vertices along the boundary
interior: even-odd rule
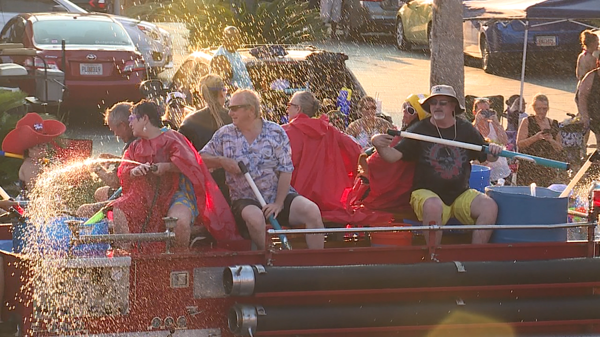
[[[255,53],[261,49],[266,52]],[[203,49],[188,55],[173,76],[172,89],[184,92],[188,104],[202,105],[198,98],[198,83],[209,73],[215,50]],[[284,55],[270,55],[269,50],[277,50],[277,55],[283,50]],[[365,96],[365,90],[346,67],[347,55],[301,45],[249,46],[238,52],[271,121],[284,122],[290,97],[304,89],[310,89],[319,100],[330,98],[334,102],[342,88],[350,89],[351,119],[356,118],[357,103]],[[282,83],[285,85],[281,86]]]

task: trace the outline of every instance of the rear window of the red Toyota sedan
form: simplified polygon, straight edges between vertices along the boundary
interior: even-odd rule
[[[105,46],[131,46],[127,32],[115,22],[70,19],[35,22],[36,44],[95,44]]]

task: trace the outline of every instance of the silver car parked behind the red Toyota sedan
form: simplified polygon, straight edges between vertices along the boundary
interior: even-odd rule
[[[82,2],[83,0],[76,0]],[[91,6],[90,0],[85,0]],[[92,0],[92,3],[109,0]],[[112,0],[110,0],[112,2]],[[98,11],[97,8],[93,8]],[[69,0],[0,0],[0,27],[19,13],[61,12],[85,14],[88,11]],[[173,48],[169,32],[151,22],[131,19],[125,16],[110,15],[120,22],[144,57],[150,74],[158,74],[166,68],[173,68]]]

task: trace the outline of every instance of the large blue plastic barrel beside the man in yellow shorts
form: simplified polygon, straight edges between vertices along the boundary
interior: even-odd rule
[[[529,186],[489,186],[485,194],[498,204],[499,225],[562,224],[567,222],[568,198],[560,192],[536,187],[535,197]],[[490,242],[566,241],[566,228],[494,230]]]

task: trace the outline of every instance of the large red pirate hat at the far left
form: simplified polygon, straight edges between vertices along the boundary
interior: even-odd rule
[[[2,151],[22,155],[26,149],[49,143],[66,130],[67,127],[61,122],[52,119],[44,121],[37,113],[30,112],[19,119],[14,130],[4,137]]]

